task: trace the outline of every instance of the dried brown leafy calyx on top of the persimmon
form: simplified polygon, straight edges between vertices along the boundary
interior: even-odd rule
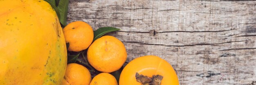
[[[135,78],[136,81],[142,83],[142,85],[160,85],[164,77],[161,75],[153,75],[153,77],[150,78],[136,72]]]

